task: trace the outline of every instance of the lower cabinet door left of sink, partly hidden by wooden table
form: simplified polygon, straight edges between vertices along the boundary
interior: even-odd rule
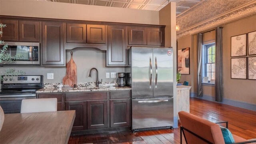
[[[65,110],[76,110],[76,118],[72,130],[86,130],[86,102],[65,102]]]

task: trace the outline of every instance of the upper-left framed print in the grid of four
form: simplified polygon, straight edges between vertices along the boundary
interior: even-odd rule
[[[247,34],[231,37],[231,57],[246,56]]]

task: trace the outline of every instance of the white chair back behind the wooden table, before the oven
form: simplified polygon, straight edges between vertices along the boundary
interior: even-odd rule
[[[20,113],[57,111],[57,98],[24,99]]]

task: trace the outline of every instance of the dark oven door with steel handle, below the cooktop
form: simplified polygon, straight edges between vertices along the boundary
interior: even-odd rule
[[[36,98],[36,94],[11,94],[0,95],[0,106],[4,114],[20,113],[21,101]]]

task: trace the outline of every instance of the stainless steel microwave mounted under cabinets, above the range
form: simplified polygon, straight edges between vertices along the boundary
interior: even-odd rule
[[[34,42],[4,42],[8,44],[7,53],[15,56],[14,63],[0,65],[40,65],[40,44]],[[0,44],[0,49],[4,44]]]

